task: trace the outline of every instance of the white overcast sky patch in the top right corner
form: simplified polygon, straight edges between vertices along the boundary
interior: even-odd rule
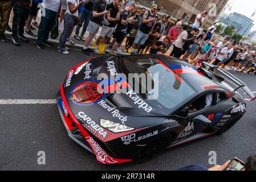
[[[233,1],[233,0],[229,0]],[[237,12],[250,18],[253,12],[256,10],[255,0],[234,0],[230,13]],[[254,15],[254,27],[251,30],[256,30],[256,14]]]

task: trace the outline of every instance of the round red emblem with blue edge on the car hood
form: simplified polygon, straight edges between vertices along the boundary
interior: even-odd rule
[[[71,93],[70,100],[79,104],[94,104],[104,96],[102,85],[94,80],[88,80],[80,83]]]

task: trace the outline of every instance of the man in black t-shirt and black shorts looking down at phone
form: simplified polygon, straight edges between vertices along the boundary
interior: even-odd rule
[[[123,41],[125,34],[127,32],[128,23],[133,23],[136,21],[135,16],[131,16],[130,18],[128,18],[129,13],[133,10],[135,10],[135,5],[131,4],[127,7],[125,7],[125,9],[122,11],[120,20],[117,24],[116,31],[114,34],[115,40],[113,40],[113,42],[115,42],[115,43],[113,44],[109,54],[116,56],[116,53],[114,52],[114,50]]]

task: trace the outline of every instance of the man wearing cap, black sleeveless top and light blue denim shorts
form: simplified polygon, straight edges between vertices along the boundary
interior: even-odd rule
[[[152,28],[157,19],[157,5],[153,4],[151,6],[151,10],[146,11],[143,15],[143,20],[140,26],[140,30],[137,32],[135,41],[133,42],[133,46],[131,48],[131,53],[138,53],[138,49],[145,44],[146,40],[149,37],[149,33],[152,31]]]

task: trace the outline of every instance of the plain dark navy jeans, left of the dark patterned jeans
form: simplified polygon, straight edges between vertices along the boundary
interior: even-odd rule
[[[36,41],[37,43],[43,43],[48,40],[49,33],[54,26],[57,14],[58,13],[55,11],[45,9],[45,16],[41,16],[41,22],[38,28],[38,38]]]

